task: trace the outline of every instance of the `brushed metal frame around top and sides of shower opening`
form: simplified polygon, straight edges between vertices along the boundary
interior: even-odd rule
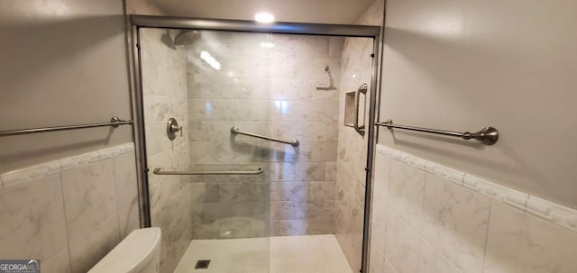
[[[132,52],[133,52],[133,117],[135,117],[134,141],[136,145],[136,157],[139,183],[139,200],[141,204],[141,225],[151,226],[151,204],[149,196],[149,184],[146,155],[146,141],[144,134],[144,109],[142,101],[142,56],[140,50],[142,28],[160,29],[194,29],[224,32],[257,32],[257,33],[284,33],[340,36],[353,38],[372,39],[372,69],[371,69],[371,98],[369,102],[369,126],[368,149],[365,177],[365,198],[362,228],[362,267],[361,272],[369,272],[370,234],[371,234],[371,200],[372,200],[372,174],[374,149],[376,145],[375,115],[378,102],[378,78],[380,68],[380,39],[383,36],[381,27],[376,25],[358,24],[328,24],[328,23],[256,23],[243,20],[205,19],[189,17],[172,17],[156,15],[130,15],[132,24]],[[137,137],[137,136],[140,136]]]

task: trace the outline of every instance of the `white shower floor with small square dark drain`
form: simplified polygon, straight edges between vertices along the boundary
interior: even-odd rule
[[[197,260],[210,259],[206,269]],[[352,273],[334,235],[193,240],[174,273]]]

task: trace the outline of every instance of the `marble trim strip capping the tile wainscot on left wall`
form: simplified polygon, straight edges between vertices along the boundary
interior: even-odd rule
[[[101,156],[102,150],[105,151],[104,153],[105,157]],[[117,145],[102,150],[95,150],[76,156],[71,156],[58,160],[52,160],[38,165],[33,165],[25,168],[18,168],[5,172],[3,174],[0,174],[0,190],[5,190],[9,187],[18,186],[23,183],[40,180],[42,178],[49,177],[54,174],[60,174],[61,172],[69,170],[71,168],[78,168],[87,165],[89,163],[93,163],[102,159],[107,159],[111,155],[110,151],[117,151],[116,153],[114,152],[112,153],[114,154],[114,156],[117,156],[121,153],[134,150],[134,144],[128,143],[123,145]]]

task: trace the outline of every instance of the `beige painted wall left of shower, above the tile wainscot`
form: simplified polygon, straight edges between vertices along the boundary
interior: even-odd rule
[[[0,131],[131,117],[122,1],[0,2]],[[132,141],[130,126],[0,139],[0,172]]]

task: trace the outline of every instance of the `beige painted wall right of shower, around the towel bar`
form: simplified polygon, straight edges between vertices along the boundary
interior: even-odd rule
[[[379,142],[577,207],[575,32],[575,1],[387,1],[380,120],[500,139]]]

